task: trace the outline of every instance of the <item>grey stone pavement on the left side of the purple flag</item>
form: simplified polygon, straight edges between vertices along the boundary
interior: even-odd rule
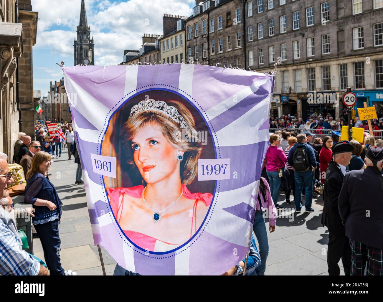
[[[65,270],[78,275],[102,275],[97,246],[94,245],[90,226],[84,185],[75,185],[77,164],[74,156],[68,160],[67,149],[60,158],[54,158],[49,168],[49,180],[56,187],[63,203],[59,233],[61,238],[60,258]],[[33,238],[34,255],[44,259],[43,248],[38,238]],[[113,275],[116,261],[101,248],[105,271]]]

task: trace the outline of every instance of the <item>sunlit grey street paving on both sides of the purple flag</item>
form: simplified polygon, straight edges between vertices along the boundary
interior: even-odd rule
[[[61,158],[54,158],[49,169],[49,177],[55,185],[63,203],[61,225],[61,264],[66,270],[78,275],[102,275],[97,246],[93,243],[92,229],[87,209],[84,185],[75,185],[77,164],[74,157],[68,160],[67,149],[62,150]],[[328,275],[327,243],[328,231],[321,225],[323,209],[322,196],[313,196],[313,213],[295,215],[295,205],[285,202],[280,192],[277,226],[273,233],[268,232],[269,255],[266,275]],[[293,200],[293,197],[290,197]],[[304,197],[303,197],[304,204]],[[269,230],[268,221],[266,228]],[[33,239],[34,254],[44,259],[43,249],[38,238]],[[116,262],[101,248],[107,275],[113,275]],[[342,263],[340,274],[344,275]]]

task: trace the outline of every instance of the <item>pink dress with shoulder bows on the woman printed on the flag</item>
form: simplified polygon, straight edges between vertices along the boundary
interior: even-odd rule
[[[136,185],[135,187],[130,187],[130,188],[115,188],[115,189],[109,188],[106,190],[108,192],[108,195],[110,196],[110,205],[111,205],[113,213],[115,213],[116,215],[116,220],[118,223],[121,220],[121,215],[118,216],[118,213],[122,213],[122,210],[124,207],[124,198],[122,198],[121,202],[119,202],[120,196],[123,194],[128,194],[129,196],[133,198],[141,198],[143,190],[144,190],[143,185]],[[185,196],[187,199],[195,199],[195,202],[193,205],[193,217],[191,217],[191,230],[190,230],[190,238],[191,238],[191,236],[193,236],[193,234],[197,231],[196,210],[197,210],[198,202],[203,202],[205,206],[208,207],[211,204],[213,195],[211,195],[210,193],[190,193],[190,191],[188,190],[185,184],[182,184],[182,193],[183,193],[183,196]],[[148,249],[149,251],[163,252],[163,251],[169,251],[179,246],[173,243],[169,243],[169,242],[165,242],[165,241],[153,238],[151,236],[148,236],[136,231],[130,231],[130,230],[123,230],[123,231],[125,235],[131,241],[133,241],[136,245],[140,247],[144,247]]]

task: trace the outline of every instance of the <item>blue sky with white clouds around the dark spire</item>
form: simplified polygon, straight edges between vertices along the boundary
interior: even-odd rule
[[[33,46],[33,89],[44,95],[50,82],[63,76],[56,63],[74,65],[81,0],[31,2],[33,11],[39,14]],[[95,65],[121,63],[124,49],[139,49],[144,33],[162,34],[164,13],[190,16],[194,6],[195,0],[85,0],[95,43]]]

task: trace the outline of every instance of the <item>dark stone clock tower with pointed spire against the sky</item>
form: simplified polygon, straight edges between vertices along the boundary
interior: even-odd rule
[[[94,43],[90,38],[84,0],[81,1],[80,24],[77,26],[77,40],[74,40],[74,65],[94,65]]]

